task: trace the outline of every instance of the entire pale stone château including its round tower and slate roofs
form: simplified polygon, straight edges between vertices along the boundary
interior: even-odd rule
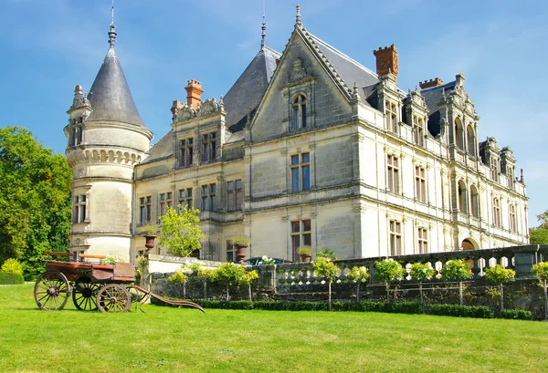
[[[210,260],[233,260],[227,240],[241,234],[249,256],[289,260],[302,244],[352,258],[528,243],[516,161],[494,138],[479,141],[462,74],[404,91],[394,45],[374,51],[374,72],[313,36],[298,10],[283,53],[263,32],[224,98],[203,99],[189,80],[149,149],[113,25],[110,36],[65,128],[75,252],[142,254],[143,225],[179,204],[201,211]]]

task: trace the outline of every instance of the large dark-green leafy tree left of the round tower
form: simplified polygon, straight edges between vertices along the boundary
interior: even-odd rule
[[[0,129],[0,263],[21,260],[29,279],[44,271],[45,251],[68,251],[71,178],[29,130]]]

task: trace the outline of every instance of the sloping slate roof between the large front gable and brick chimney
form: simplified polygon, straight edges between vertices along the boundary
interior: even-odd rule
[[[335,71],[341,76],[348,88],[353,88],[354,82],[358,83],[358,87],[365,88],[380,81],[378,75],[369,68],[364,67],[351,57],[346,56],[340,50],[330,46],[318,36],[313,36],[308,31],[307,33],[320,48],[321,53],[323,53],[332,66],[335,67]],[[364,89],[359,89],[358,92],[362,102],[365,105],[368,105],[366,91],[364,91]]]

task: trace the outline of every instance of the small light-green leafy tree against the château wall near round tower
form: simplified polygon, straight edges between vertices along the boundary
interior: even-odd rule
[[[202,247],[200,238],[205,234],[200,229],[200,211],[184,208],[179,205],[179,211],[168,207],[167,212],[160,217],[160,244],[175,256],[190,256]]]

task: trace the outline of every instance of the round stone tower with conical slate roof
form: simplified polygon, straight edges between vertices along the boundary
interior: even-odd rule
[[[68,109],[67,161],[72,168],[70,250],[131,259],[133,167],[153,133],[142,123],[116,57],[116,26],[109,51],[88,95],[76,86]]]

